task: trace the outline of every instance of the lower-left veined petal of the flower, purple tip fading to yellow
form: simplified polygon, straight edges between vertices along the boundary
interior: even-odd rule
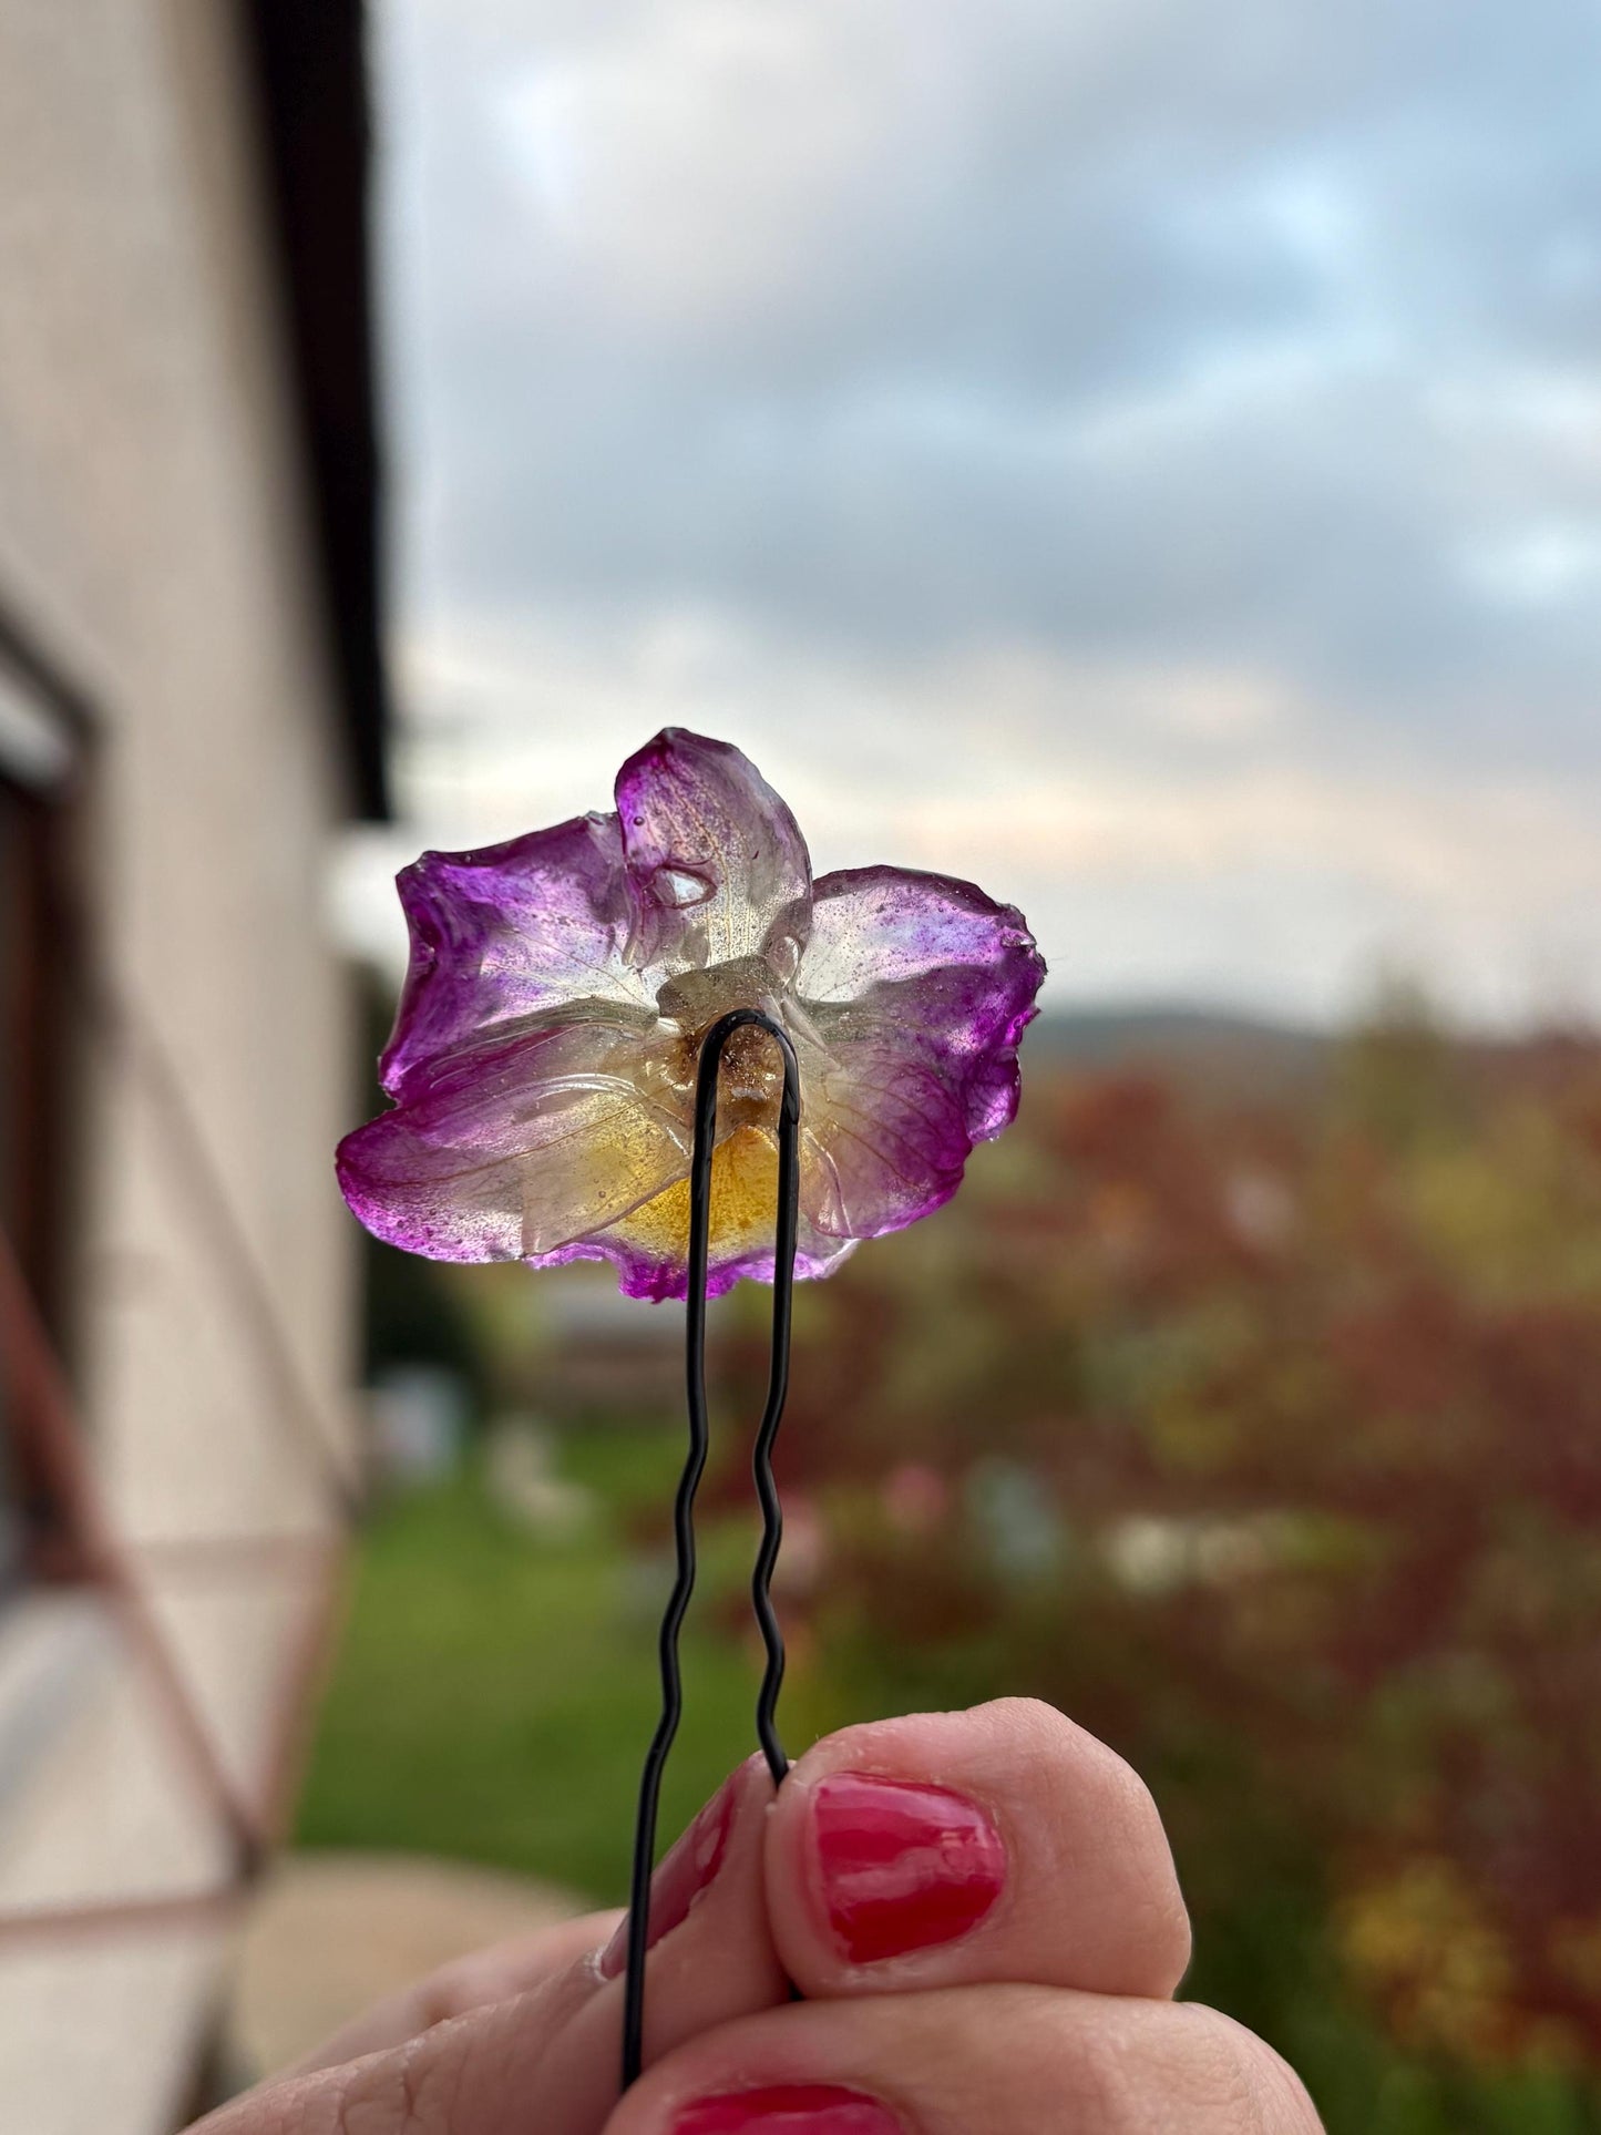
[[[649,1016],[527,1018],[410,1070],[403,1102],[339,1144],[339,1185],[412,1253],[549,1255],[683,1174],[687,1091],[664,1065]]]

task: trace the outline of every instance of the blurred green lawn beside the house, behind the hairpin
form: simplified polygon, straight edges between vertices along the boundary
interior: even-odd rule
[[[476,1469],[378,1512],[322,1702],[301,1845],[444,1853],[623,1898],[670,1565],[632,1556],[619,1535],[632,1501],[670,1497],[677,1460],[670,1433],[574,1437],[564,1467],[598,1501],[581,1539],[523,1533]],[[747,1561],[747,1537],[711,1531],[704,1559],[711,1599],[719,1571]],[[685,1629],[664,1840],[756,1742],[760,1657],[702,1627],[704,1614]],[[805,1685],[792,1689],[786,1721],[805,1740]]]

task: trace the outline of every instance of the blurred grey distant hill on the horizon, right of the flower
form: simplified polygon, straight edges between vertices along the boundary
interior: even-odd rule
[[[1061,1068],[1155,1068],[1230,1091],[1300,1085],[1328,1070],[1334,1040],[1270,1023],[1168,1003],[1052,1010],[1029,1025],[1025,1061]]]

